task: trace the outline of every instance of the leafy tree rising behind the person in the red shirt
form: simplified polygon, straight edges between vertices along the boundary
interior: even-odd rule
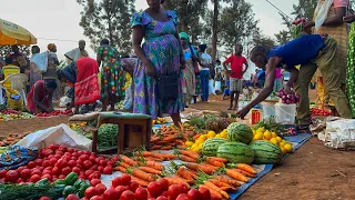
[[[252,4],[244,0],[234,0],[222,11],[219,23],[221,43],[231,52],[236,43],[245,43],[251,34],[258,31],[257,20],[254,18]]]

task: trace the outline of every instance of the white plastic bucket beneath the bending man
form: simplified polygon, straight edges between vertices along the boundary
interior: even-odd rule
[[[296,104],[275,104],[276,122],[283,124],[294,124],[296,118]]]

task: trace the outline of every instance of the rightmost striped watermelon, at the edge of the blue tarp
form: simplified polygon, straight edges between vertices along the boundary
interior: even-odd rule
[[[265,140],[256,140],[248,144],[254,150],[254,163],[271,164],[276,163],[282,159],[282,151],[278,146]]]

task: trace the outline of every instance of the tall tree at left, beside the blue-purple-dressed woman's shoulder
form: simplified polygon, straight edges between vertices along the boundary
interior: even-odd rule
[[[132,52],[130,21],[134,0],[77,0],[82,6],[80,26],[95,51],[100,40],[108,38],[120,53]]]

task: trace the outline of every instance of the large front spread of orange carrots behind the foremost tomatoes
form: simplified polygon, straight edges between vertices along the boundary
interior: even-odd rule
[[[206,188],[217,199],[229,199],[231,191],[236,191],[243,182],[256,177],[256,171],[248,164],[227,164],[227,160],[216,157],[200,158],[200,154],[189,150],[175,150],[175,153],[159,153],[140,151],[134,158],[119,156],[116,171],[130,173],[132,180],[142,187],[164,177],[169,184],[184,184]],[[184,161],[181,164],[172,160]],[[171,161],[164,168],[161,161]],[[229,168],[227,168],[229,167]]]

